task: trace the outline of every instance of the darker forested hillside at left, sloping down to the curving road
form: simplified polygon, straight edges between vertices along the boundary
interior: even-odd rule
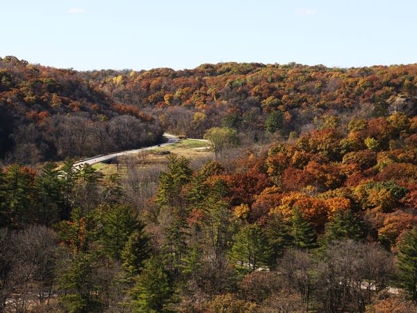
[[[72,69],[0,58],[0,158],[33,164],[161,142],[153,117]]]

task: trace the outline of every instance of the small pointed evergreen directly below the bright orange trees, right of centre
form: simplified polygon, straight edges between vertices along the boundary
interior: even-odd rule
[[[293,245],[298,248],[312,248],[315,246],[316,232],[311,223],[301,216],[299,208],[293,208],[292,222],[291,235],[293,236]]]

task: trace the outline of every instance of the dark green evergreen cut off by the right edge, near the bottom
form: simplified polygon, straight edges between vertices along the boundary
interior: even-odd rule
[[[417,226],[407,231],[398,246],[399,279],[417,301]]]

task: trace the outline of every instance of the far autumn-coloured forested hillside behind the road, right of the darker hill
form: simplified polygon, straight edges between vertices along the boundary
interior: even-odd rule
[[[417,65],[352,69],[321,65],[219,63],[174,71],[92,71],[82,75],[122,103],[151,110],[173,133],[201,137],[228,126],[250,139],[311,129],[323,115],[350,119],[414,113]]]

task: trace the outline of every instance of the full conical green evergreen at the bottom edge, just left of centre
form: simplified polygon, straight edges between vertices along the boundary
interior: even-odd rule
[[[167,272],[156,257],[147,260],[145,267],[136,277],[131,290],[133,312],[171,312],[167,305],[172,303],[174,287]]]

